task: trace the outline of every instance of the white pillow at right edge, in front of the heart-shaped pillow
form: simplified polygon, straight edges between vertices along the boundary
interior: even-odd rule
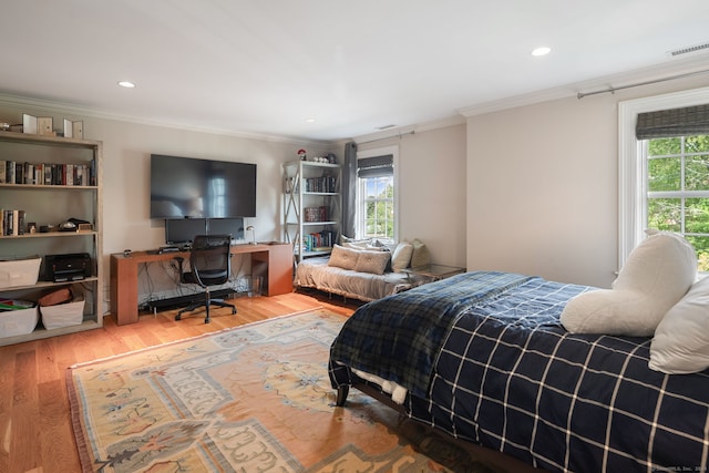
[[[648,367],[669,374],[709,368],[709,277],[695,282],[657,326]]]

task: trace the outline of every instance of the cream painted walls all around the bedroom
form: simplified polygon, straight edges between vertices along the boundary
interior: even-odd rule
[[[400,235],[421,238],[435,263],[609,287],[618,269],[617,104],[702,85],[687,79],[548,101],[360,150],[400,146]],[[299,147],[342,155],[341,143],[216,135],[0,100],[0,121],[19,123],[22,112],[84,120],[85,137],[103,141],[105,286],[110,254],[164,243],[163,224],[148,218],[151,153],[257,163],[258,217],[248,224],[259,240],[281,238],[281,163]]]

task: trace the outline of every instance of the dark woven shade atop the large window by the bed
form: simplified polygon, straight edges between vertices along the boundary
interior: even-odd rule
[[[709,134],[709,104],[638,113],[638,140]]]

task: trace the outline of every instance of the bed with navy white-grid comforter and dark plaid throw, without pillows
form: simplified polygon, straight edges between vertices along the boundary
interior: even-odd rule
[[[571,300],[603,291],[475,271],[369,302],[330,350],[337,403],[359,388],[548,471],[707,471],[709,371],[650,369],[650,336],[562,325]]]

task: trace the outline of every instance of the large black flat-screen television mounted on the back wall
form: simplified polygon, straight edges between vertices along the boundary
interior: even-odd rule
[[[151,218],[256,216],[256,164],[151,155]]]

